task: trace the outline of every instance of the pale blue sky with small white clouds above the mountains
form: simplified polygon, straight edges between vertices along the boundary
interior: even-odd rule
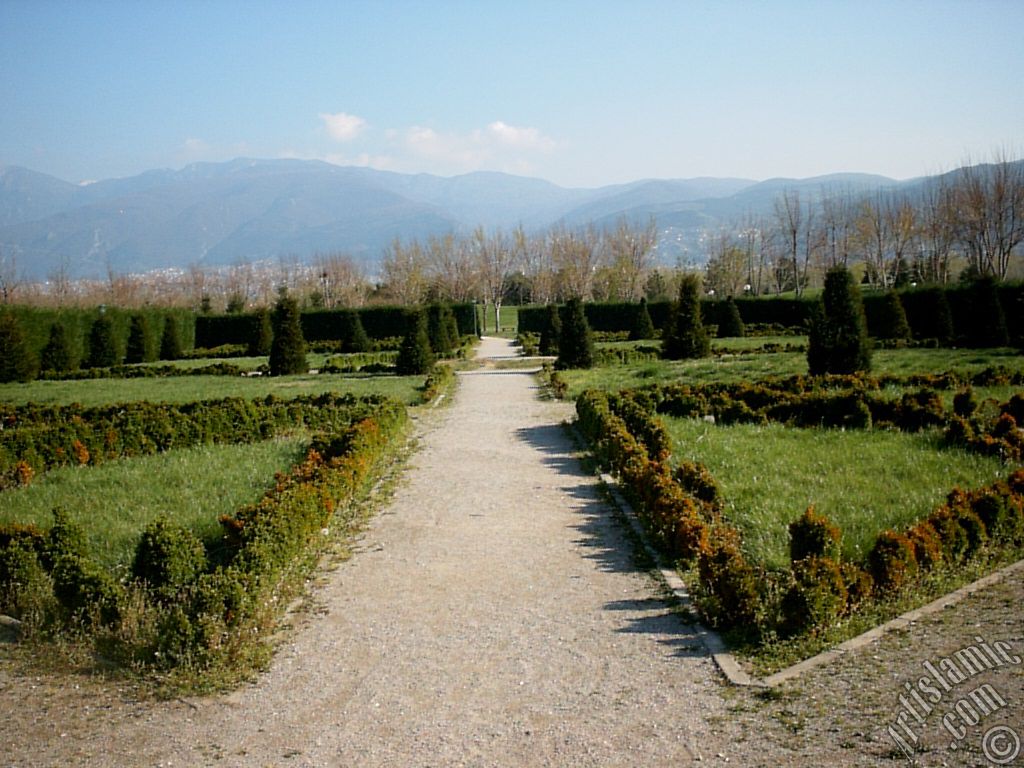
[[[0,165],[571,187],[1024,155],[1024,0],[0,0]]]

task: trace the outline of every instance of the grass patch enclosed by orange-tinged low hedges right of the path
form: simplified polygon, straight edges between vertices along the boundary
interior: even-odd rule
[[[935,431],[665,423],[674,456],[708,466],[744,550],[771,567],[787,564],[787,526],[810,505],[842,528],[844,554],[859,561],[881,530],[927,516],[954,485],[1008,472],[998,459],[943,447]]]

